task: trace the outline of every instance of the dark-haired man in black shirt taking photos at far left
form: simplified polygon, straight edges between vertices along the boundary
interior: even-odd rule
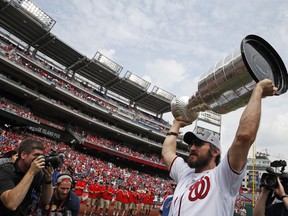
[[[53,194],[53,167],[45,167],[44,144],[27,138],[18,146],[18,159],[0,167],[0,214],[27,215],[32,191],[42,193],[39,203],[47,204]],[[42,186],[42,187],[41,187]]]

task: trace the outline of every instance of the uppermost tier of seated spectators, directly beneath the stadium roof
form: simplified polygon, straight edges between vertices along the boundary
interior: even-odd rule
[[[127,106],[120,101],[105,96],[87,82],[69,77],[66,73],[49,65],[44,60],[32,58],[30,53],[23,51],[20,52],[17,46],[12,45],[12,43],[7,40],[5,42],[7,44],[0,44],[0,48],[2,48],[3,54],[9,60],[23,65],[45,80],[59,86],[63,90],[66,90],[77,97],[85,99],[93,105],[100,106],[111,113],[118,114],[141,124],[142,126],[148,127],[149,129],[163,133],[167,132],[169,124],[163,119],[156,118],[152,115],[141,112],[136,108]]]

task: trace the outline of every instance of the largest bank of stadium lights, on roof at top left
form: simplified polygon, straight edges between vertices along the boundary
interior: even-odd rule
[[[45,29],[50,30],[56,21],[29,0],[14,0],[26,14],[39,22]]]

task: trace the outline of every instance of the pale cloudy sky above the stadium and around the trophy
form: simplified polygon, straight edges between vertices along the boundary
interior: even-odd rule
[[[99,51],[176,96],[191,96],[203,73],[255,34],[288,63],[287,0],[34,0],[56,20],[51,32],[92,58]],[[243,108],[222,116],[226,152]],[[171,123],[172,115],[164,119]],[[193,129],[193,125],[189,129]],[[256,151],[288,161],[288,93],[263,100]]]

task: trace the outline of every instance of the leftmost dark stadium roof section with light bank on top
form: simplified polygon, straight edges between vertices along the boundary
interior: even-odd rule
[[[26,10],[26,4],[33,4],[25,0],[0,1],[0,25],[6,31],[25,42],[28,46],[40,51],[44,55],[70,67],[85,56],[65,44],[50,33],[56,23],[45,12],[41,12],[41,19]],[[30,6],[30,5],[29,5]],[[44,18],[45,19],[44,19]]]

